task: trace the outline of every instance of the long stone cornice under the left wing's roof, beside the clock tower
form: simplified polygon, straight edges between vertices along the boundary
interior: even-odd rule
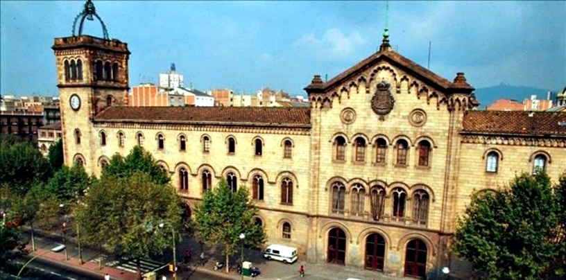
[[[310,135],[310,128],[286,128],[281,126],[246,126],[246,125],[189,125],[168,123],[111,123],[94,122],[94,128],[116,128],[132,130],[178,130],[197,132],[232,132],[252,134],[288,134]]]

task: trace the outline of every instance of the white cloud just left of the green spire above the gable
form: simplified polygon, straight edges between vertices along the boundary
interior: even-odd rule
[[[313,33],[302,35],[298,41],[293,43],[293,47],[305,49],[320,60],[343,59],[357,51],[364,42],[363,37],[355,30],[350,34],[344,34],[340,29],[332,28],[327,30],[320,39]]]

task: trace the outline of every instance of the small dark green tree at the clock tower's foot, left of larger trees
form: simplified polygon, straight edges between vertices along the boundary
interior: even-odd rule
[[[92,179],[83,166],[74,164],[63,166],[49,179],[44,186],[48,196],[54,196],[60,201],[74,201],[90,186]]]

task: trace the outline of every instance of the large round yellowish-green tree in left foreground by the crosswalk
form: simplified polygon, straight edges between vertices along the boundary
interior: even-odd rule
[[[150,175],[104,177],[93,184],[75,211],[81,238],[91,244],[105,243],[113,254],[136,259],[162,254],[171,245],[172,233],[180,233],[180,199],[170,185],[157,184]],[[167,223],[164,228],[157,227]],[[178,239],[180,234],[175,234]]]

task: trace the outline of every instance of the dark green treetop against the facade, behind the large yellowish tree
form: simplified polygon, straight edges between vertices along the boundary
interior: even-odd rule
[[[169,175],[156,164],[151,153],[140,146],[132,148],[126,157],[119,154],[113,155],[110,164],[102,170],[101,177],[125,178],[132,176],[137,171],[148,174],[150,179],[157,184],[168,184],[170,182]]]

